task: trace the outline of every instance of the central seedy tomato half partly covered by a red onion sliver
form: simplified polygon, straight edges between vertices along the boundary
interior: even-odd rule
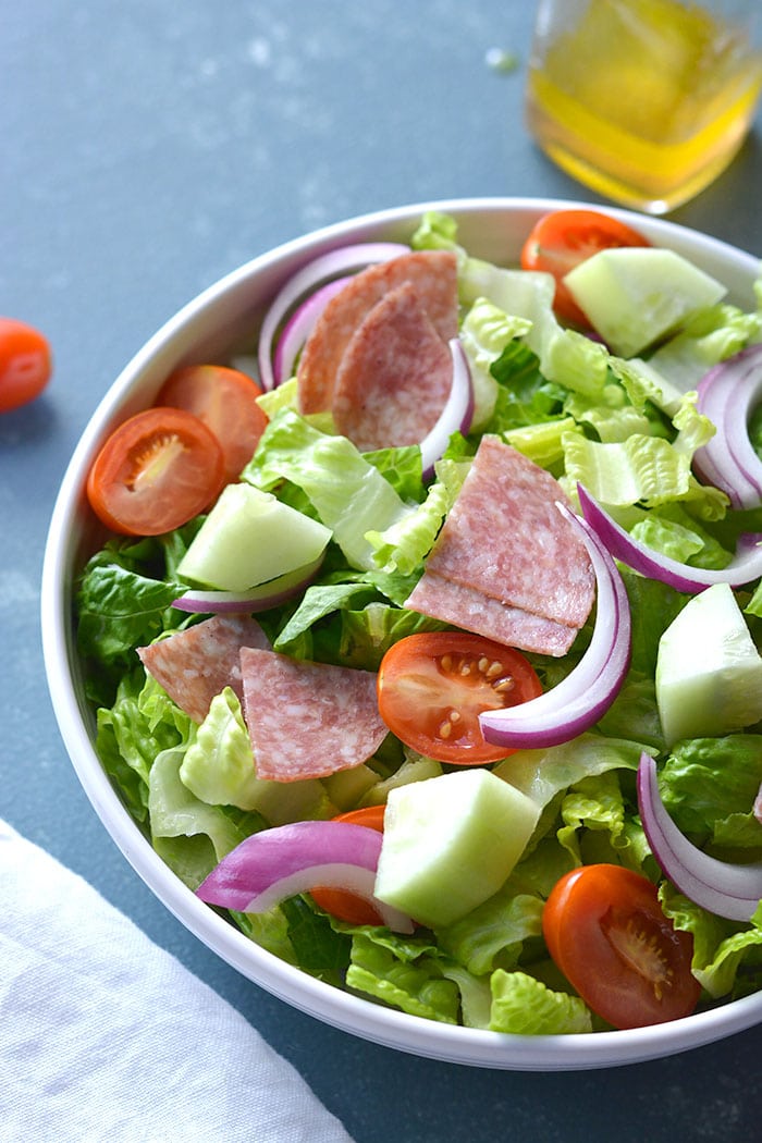
[[[400,639],[378,670],[378,710],[390,730],[420,754],[459,766],[513,753],[484,741],[479,716],[540,693],[520,652],[458,631]]]

